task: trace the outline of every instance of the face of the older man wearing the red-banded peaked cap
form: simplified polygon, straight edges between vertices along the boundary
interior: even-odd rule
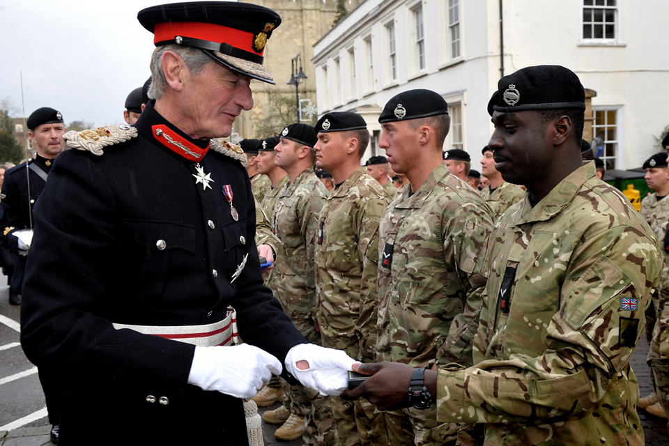
[[[190,123],[185,131],[194,138],[228,137],[242,110],[253,107],[248,76],[207,63],[199,75],[183,70],[180,112]],[[190,130],[189,128],[192,128]]]

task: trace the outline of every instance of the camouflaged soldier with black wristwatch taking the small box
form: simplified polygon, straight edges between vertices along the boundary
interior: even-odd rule
[[[484,426],[485,446],[643,445],[628,360],[659,282],[654,234],[594,162],[583,166],[585,91],[573,72],[518,70],[488,111],[497,167],[529,194],[491,234],[475,366],[425,371],[417,394],[440,420]],[[376,376],[343,397],[381,409],[413,401],[401,392],[410,367],[355,368]]]

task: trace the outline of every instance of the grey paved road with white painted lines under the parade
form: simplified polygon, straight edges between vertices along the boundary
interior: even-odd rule
[[[43,446],[49,442],[50,424],[47,421],[42,387],[33,367],[23,354],[19,343],[20,307],[9,305],[7,279],[0,274],[0,446]],[[641,343],[630,363],[638,378],[640,394],[652,392],[652,383],[645,362],[648,343]],[[277,408],[278,404],[265,410]],[[647,446],[669,446],[666,420],[639,411]],[[266,445],[299,446],[301,440],[279,442],[274,436],[278,425],[263,422]],[[187,438],[184,438],[187,443]],[[120,443],[123,443],[122,441]]]

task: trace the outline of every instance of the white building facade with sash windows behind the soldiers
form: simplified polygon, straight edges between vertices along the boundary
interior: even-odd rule
[[[584,139],[608,169],[639,167],[661,150],[669,124],[666,17],[666,0],[366,0],[314,46],[318,116],[362,114],[366,160],[383,155],[383,105],[401,91],[431,89],[449,103],[445,150],[463,148],[479,169],[502,63],[505,75],[562,65],[589,97]]]

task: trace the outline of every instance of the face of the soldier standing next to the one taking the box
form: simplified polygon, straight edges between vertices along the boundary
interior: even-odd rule
[[[385,150],[385,157],[398,174],[406,174],[417,167],[416,151],[419,144],[420,127],[410,128],[408,121],[381,124],[383,131],[378,140],[378,147]]]

